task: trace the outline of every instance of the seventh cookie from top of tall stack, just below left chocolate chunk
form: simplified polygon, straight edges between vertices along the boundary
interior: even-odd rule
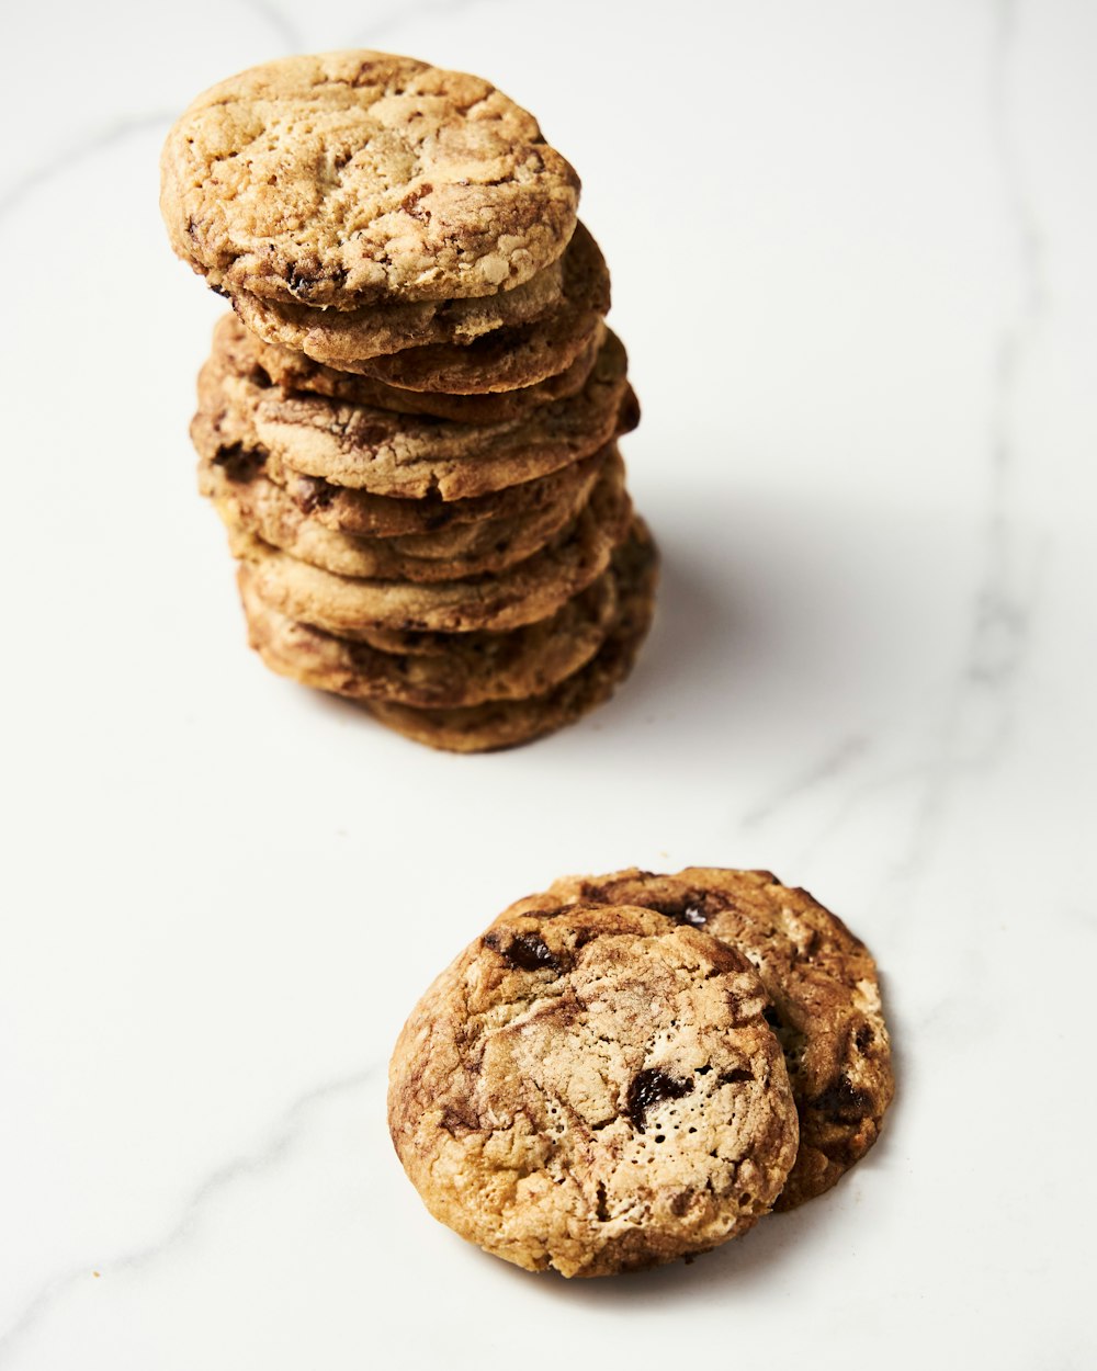
[[[595,480],[591,470],[587,496]],[[310,566],[337,576],[409,581],[451,581],[506,570],[540,551],[586,503],[580,498],[573,506],[553,505],[532,514],[410,537],[361,537],[325,528],[261,469],[241,474],[236,468],[230,477],[224,466],[202,462],[199,492],[221,509],[226,524],[239,524]]]

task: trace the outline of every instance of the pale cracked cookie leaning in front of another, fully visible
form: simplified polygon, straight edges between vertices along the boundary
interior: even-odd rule
[[[529,1271],[601,1276],[747,1231],[797,1149],[749,962],[651,910],[507,912],[435,980],[388,1123],[429,1212]]]

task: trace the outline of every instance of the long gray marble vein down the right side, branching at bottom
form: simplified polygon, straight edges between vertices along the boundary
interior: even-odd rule
[[[897,857],[884,880],[887,894],[913,898],[917,876],[937,850],[963,776],[987,773],[1005,757],[1013,732],[1017,688],[1031,654],[1034,618],[1048,557],[1017,522],[1017,472],[1022,452],[1015,425],[1017,388],[1027,361],[1050,314],[1046,245],[1039,217],[1027,192],[1015,136],[1016,110],[1011,71],[1017,41],[1013,0],[996,0],[989,58],[990,132],[1002,206],[1015,240],[1017,304],[1004,313],[989,356],[987,437],[974,458],[983,465],[983,511],[974,533],[979,562],[968,591],[968,627],[945,698],[928,738],[911,755],[905,739],[880,736],[875,749],[860,735],[823,753],[795,780],[749,810],[742,824],[754,828],[809,792],[841,790],[815,839],[802,854],[809,860],[863,806],[882,792],[913,790],[916,801],[897,843]],[[932,714],[931,714],[932,720]],[[893,721],[911,732],[909,721]],[[872,765],[869,762],[872,751]],[[908,792],[909,792],[908,790]],[[882,891],[883,893],[883,891]]]

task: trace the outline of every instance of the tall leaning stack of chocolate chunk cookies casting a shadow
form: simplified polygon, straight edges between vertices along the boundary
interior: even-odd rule
[[[639,410],[532,115],[409,58],[291,58],[200,96],[162,171],[234,310],[192,437],[267,666],[459,751],[606,699],[654,599]]]

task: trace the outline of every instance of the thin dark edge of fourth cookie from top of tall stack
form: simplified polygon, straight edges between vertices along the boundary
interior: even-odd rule
[[[499,424],[542,404],[551,404],[553,400],[575,395],[583,389],[602,345],[599,329],[570,366],[535,385],[487,395],[444,395],[433,391],[409,391],[354,372],[337,372],[335,367],[314,362],[303,352],[265,343],[256,333],[245,329],[233,314],[228,315],[228,321],[237,330],[237,344],[243,343],[250,350],[254,363],[287,392],[326,395],[333,400],[369,404],[378,410],[394,410],[396,414],[432,414],[454,424]]]

